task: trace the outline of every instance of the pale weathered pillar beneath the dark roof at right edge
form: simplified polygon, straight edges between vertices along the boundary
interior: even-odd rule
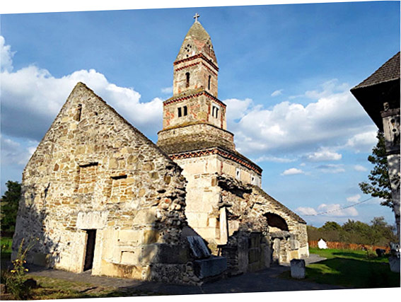
[[[388,177],[393,197],[398,242],[400,242],[400,108],[390,109],[389,107],[388,103],[384,103],[381,117],[383,118]]]

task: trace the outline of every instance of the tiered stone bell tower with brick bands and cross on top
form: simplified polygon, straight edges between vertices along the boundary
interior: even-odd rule
[[[158,132],[158,145],[192,141],[202,146],[235,149],[233,134],[226,131],[226,104],[217,98],[216,54],[198,18],[195,14],[173,63],[173,96],[163,102],[163,129]]]

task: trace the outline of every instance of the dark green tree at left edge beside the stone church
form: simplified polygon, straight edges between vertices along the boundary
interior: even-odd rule
[[[1,197],[1,232],[13,233],[16,228],[18,202],[21,198],[21,184],[8,180],[7,190]]]

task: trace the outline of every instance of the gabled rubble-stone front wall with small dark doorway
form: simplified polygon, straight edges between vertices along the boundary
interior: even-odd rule
[[[182,282],[190,256],[180,172],[77,84],[25,167],[13,257],[21,240],[35,240],[29,262],[82,272],[95,230],[93,274]]]

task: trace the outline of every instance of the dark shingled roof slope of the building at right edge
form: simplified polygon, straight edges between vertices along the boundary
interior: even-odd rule
[[[385,64],[380,66],[380,68],[373,72],[368,79],[362,81],[357,86],[352,88],[351,91],[396,79],[400,79],[400,52],[395,54],[391,59],[385,62]]]

